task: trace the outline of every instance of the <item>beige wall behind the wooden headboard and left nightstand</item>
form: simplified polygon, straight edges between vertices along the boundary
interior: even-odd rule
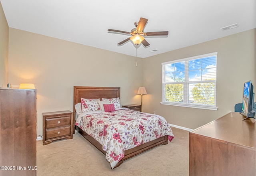
[[[121,87],[121,105],[140,103],[142,61],[136,67],[135,57],[10,28],[9,82],[35,84],[42,135],[43,112],[73,111],[73,86]]]

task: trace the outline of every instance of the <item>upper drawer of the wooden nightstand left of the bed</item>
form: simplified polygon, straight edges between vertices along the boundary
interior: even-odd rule
[[[71,125],[71,116],[46,119],[46,129]]]

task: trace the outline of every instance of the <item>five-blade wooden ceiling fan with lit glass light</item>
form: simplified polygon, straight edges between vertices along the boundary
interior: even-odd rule
[[[132,29],[131,32],[126,31],[120,31],[120,30],[113,30],[108,29],[108,31],[111,32],[120,32],[124,34],[130,34],[131,37],[127,38],[126,40],[123,40],[122,42],[119,42],[118,45],[122,45],[128,40],[132,40],[132,42],[137,46],[140,43],[142,43],[144,46],[148,46],[149,43],[145,40],[143,36],[168,36],[168,31],[162,31],[162,32],[143,32],[144,27],[146,23],[148,22],[148,19],[146,18],[140,18],[139,22],[135,22],[134,25],[136,28]]]

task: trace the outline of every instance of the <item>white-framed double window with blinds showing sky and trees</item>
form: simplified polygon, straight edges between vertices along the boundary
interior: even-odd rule
[[[216,53],[162,63],[162,104],[217,110]]]

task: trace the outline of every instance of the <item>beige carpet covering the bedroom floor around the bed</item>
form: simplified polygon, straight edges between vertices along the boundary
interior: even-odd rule
[[[48,145],[37,141],[38,176],[188,176],[188,131],[172,127],[174,139],[111,169],[104,154],[80,134]]]

